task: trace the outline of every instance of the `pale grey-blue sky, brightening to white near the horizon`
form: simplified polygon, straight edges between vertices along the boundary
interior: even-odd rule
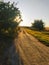
[[[49,26],[49,0],[11,0],[11,2],[18,3],[17,7],[23,19],[21,26],[31,26],[35,19],[42,19],[45,26]]]

